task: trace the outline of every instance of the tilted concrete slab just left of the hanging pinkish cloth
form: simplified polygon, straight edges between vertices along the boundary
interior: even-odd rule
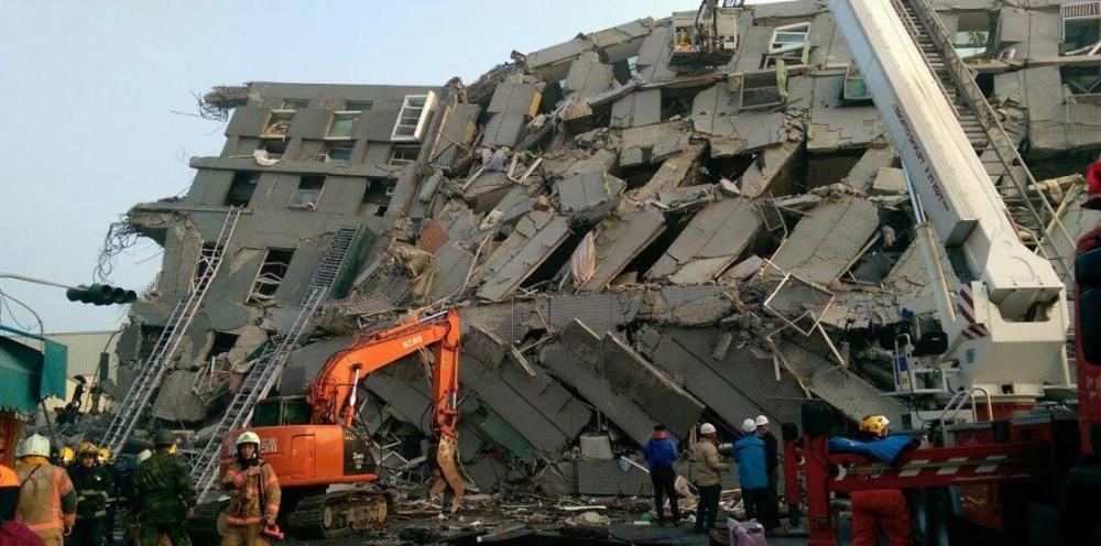
[[[532,210],[479,270],[478,297],[493,302],[512,294],[571,234],[566,219]]]

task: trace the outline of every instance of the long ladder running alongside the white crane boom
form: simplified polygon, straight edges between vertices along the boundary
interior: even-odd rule
[[[1075,238],[1059,221],[1056,212],[1059,204],[1053,203],[1036,184],[1017,151],[1017,142],[1005,132],[971,69],[956,51],[953,37],[928,0],[891,0],[891,3],[939,80],[971,146],[999,188],[1022,242],[1047,258],[1065,283],[1072,282]]]

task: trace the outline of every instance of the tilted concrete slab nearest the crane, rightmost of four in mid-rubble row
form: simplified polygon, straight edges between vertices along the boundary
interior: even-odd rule
[[[836,281],[879,229],[879,209],[868,199],[839,196],[810,210],[776,250],[772,263],[806,281]]]

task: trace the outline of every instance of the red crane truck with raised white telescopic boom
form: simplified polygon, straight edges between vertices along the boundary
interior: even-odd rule
[[[930,404],[911,414],[912,425],[931,427],[930,445],[892,463],[831,452],[827,411],[807,404],[802,435],[784,426],[789,509],[805,499],[811,546],[837,544],[836,493],[872,489],[929,501],[916,503],[928,544],[1101,544],[1092,507],[1101,493],[1101,229],[1076,249],[1077,406],[1039,408],[1046,389],[1070,384],[1064,282],[1018,239],[895,10],[882,0],[828,3],[902,159],[942,330],[896,359],[896,389]],[[1084,206],[1101,208],[1101,163],[1088,178]],[[955,406],[931,405],[946,397]],[[968,404],[969,423],[950,418]]]

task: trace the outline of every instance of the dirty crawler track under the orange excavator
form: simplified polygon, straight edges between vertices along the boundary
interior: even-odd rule
[[[301,538],[341,538],[386,523],[391,499],[379,491],[341,491],[303,498],[286,518],[287,532]]]

